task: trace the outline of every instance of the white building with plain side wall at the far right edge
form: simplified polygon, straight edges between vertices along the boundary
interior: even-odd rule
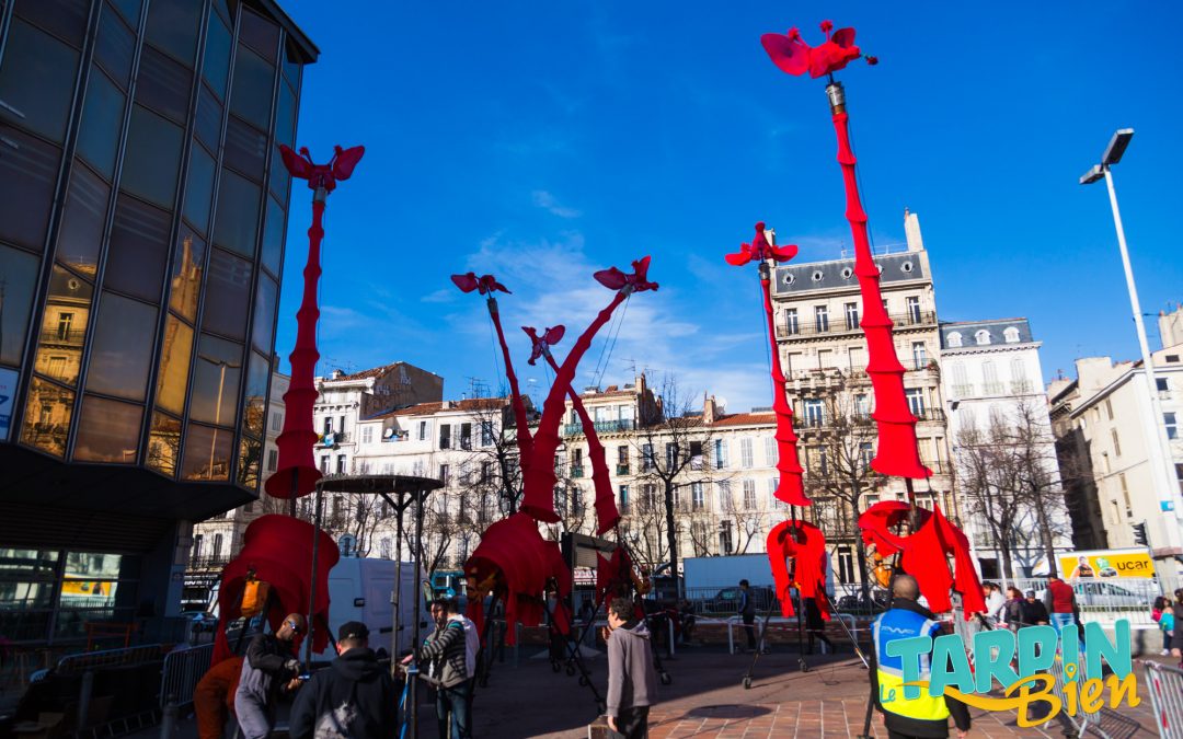
[[[1178,311],[1163,316],[1162,336],[1171,338]],[[1183,343],[1152,352],[1162,417],[1151,410],[1142,362],[1108,357],[1077,359],[1077,377],[1048,388],[1077,545],[1143,546],[1134,525],[1146,524],[1149,547],[1164,582],[1175,582],[1175,556],[1183,555],[1176,513],[1183,506]],[[1159,428],[1170,446],[1170,467],[1151,453]],[[1164,474],[1174,472],[1174,474]],[[1163,479],[1168,481],[1162,482]]]

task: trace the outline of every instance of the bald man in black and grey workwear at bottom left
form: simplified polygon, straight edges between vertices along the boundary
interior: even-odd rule
[[[292,643],[304,633],[304,616],[287,614],[274,634],[258,634],[246,648],[243,674],[234,692],[234,715],[246,739],[265,739],[276,725],[280,689],[299,686],[299,660]]]

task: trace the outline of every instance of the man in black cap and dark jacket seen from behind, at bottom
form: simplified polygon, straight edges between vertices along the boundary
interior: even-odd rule
[[[369,648],[369,629],[350,621],[337,630],[337,659],[296,696],[291,739],[389,739],[397,731],[390,673]]]

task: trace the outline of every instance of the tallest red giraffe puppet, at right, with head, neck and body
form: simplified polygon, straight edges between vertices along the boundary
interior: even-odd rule
[[[867,239],[867,214],[859,199],[858,177],[854,151],[851,148],[849,115],[846,110],[846,92],[842,84],[834,79],[834,72],[846,67],[858,59],[861,52],[854,45],[854,28],[833,31],[830,21],[821,24],[826,41],[819,46],[809,46],[801,39],[796,28],[788,34],[768,33],[761,37],[761,44],[769,58],[782,71],[801,76],[828,77],[826,95],[829,99],[830,117],[838,135],[838,162],[842,169],[842,181],[846,188],[846,219],[851,225],[854,240],[854,273],[859,281],[862,297],[862,331],[867,338],[867,374],[874,390],[875,420],[879,446],[871,466],[885,475],[901,477],[907,486],[907,504],[893,504],[892,517],[884,519],[885,504],[872,507],[859,518],[864,529],[864,538],[874,540],[881,555],[892,551],[904,552],[904,565],[917,577],[922,594],[936,610],[949,604],[949,590],[945,585],[956,586],[964,598],[965,618],[970,618],[982,599],[982,589],[977,575],[969,563],[969,543],[964,534],[949,523],[939,511],[929,513],[916,505],[913,479],[925,479],[932,474],[920,461],[919,447],[916,440],[916,416],[912,415],[904,395],[904,365],[896,355],[892,341],[892,320],[884,307],[879,291],[879,268],[875,266]],[[833,31],[833,33],[832,33]],[[878,60],[867,57],[870,64]],[[903,507],[898,507],[903,506]],[[872,516],[872,512],[874,514]],[[892,543],[880,536],[888,525],[909,524],[912,536],[906,539],[896,537]],[[868,533],[874,527],[874,534]],[[949,575],[946,555],[953,556],[958,563],[957,576]],[[909,566],[911,565],[911,566]],[[982,607],[984,608],[984,605]]]

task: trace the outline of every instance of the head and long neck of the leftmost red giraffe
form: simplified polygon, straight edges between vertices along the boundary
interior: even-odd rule
[[[321,471],[316,467],[312,446],[316,430],[312,429],[312,406],[316,403],[316,384],[312,376],[321,354],[316,349],[316,322],[321,309],[316,305],[316,287],[321,280],[321,241],[324,239],[324,203],[341,180],[348,180],[354,167],[366,154],[364,147],[342,149],[335,147],[328,164],[313,164],[308,149],[297,155],[291,148],[279,145],[284,167],[291,176],[308,180],[312,190],[312,226],[308,229],[308,261],[304,265],[304,296],[296,312],[296,348],[289,359],[292,365],[291,383],[284,394],[284,429],[276,440],[279,461],[274,474],[264,486],[273,498],[299,498],[316,488]]]

